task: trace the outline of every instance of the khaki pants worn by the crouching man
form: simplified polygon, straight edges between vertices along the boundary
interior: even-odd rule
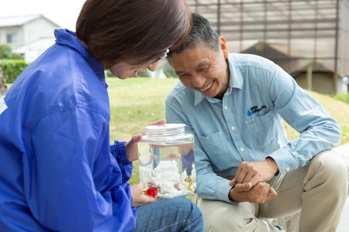
[[[233,178],[233,177],[230,177]],[[300,232],[335,232],[348,194],[348,167],[333,151],[314,156],[304,167],[274,176],[278,195],[264,204],[207,200],[194,196],[206,232],[280,232],[259,218],[301,212]]]

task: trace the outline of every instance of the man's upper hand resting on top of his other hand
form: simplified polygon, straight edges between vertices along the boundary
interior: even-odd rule
[[[261,162],[242,162],[235,173],[237,183],[251,183],[254,187],[257,183],[270,180],[279,171],[278,165],[271,157]]]

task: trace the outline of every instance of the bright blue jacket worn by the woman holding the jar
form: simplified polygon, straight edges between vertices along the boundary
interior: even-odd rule
[[[132,163],[109,144],[103,66],[74,32],[55,36],[0,98],[0,231],[132,231]]]

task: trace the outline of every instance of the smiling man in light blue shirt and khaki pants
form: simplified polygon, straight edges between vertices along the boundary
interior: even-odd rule
[[[192,18],[187,39],[168,53],[179,81],[166,118],[194,135],[194,202],[205,230],[278,232],[259,217],[302,211],[300,231],[336,231],[348,193],[348,167],[331,151],[338,123],[280,67],[229,54],[204,17]],[[287,139],[282,118],[299,138]]]

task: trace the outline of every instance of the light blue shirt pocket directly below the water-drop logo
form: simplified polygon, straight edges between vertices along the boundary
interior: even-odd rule
[[[263,116],[245,121],[253,147],[261,149],[267,146],[276,136],[275,114],[273,108]]]

